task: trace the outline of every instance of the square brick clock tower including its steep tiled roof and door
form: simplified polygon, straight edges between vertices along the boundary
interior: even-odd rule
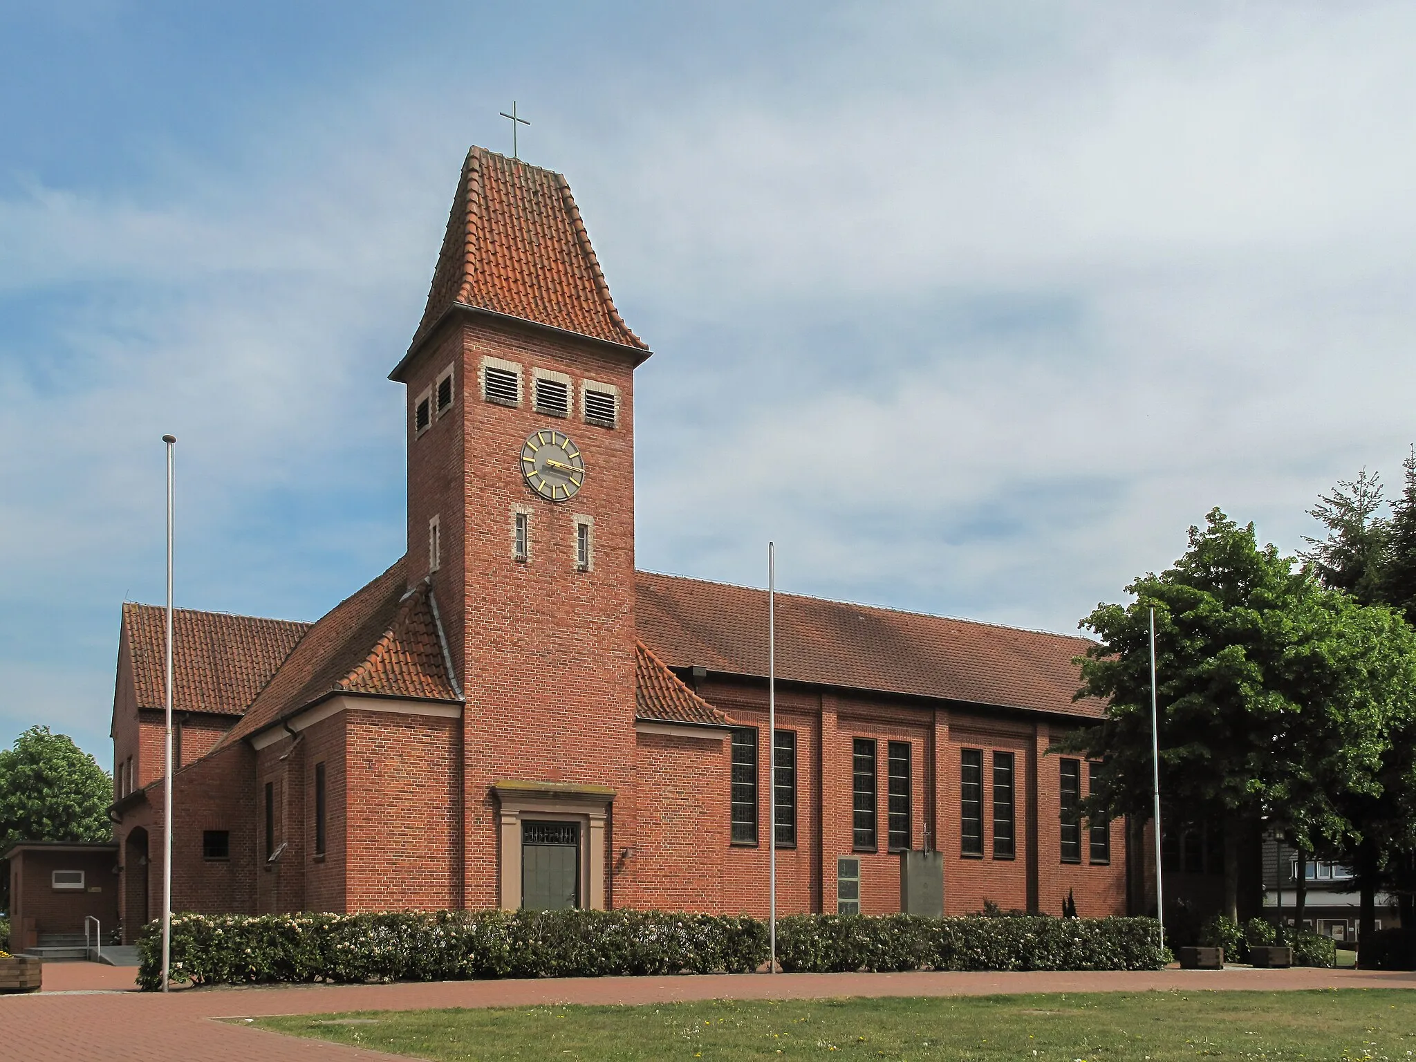
[[[408,578],[463,711],[467,908],[612,902],[634,742],[634,370],[565,178],[473,147],[406,385]]]

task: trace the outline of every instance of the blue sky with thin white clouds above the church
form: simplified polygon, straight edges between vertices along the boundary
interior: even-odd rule
[[[784,589],[1072,630],[1211,506],[1297,548],[1416,436],[1413,52],[1359,1],[0,3],[0,742],[108,763],[163,432],[178,605],[402,552],[385,374],[513,99],[656,350],[640,566],[775,537]]]

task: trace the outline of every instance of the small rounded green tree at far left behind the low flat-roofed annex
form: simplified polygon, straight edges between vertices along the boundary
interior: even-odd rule
[[[0,852],[16,841],[108,841],[110,803],[113,780],[68,735],[31,726],[0,752]]]

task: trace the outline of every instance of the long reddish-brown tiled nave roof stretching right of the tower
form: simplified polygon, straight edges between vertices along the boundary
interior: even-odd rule
[[[670,667],[766,677],[766,590],[637,572],[640,640]],[[777,595],[777,678],[1099,716],[1073,701],[1082,637]]]

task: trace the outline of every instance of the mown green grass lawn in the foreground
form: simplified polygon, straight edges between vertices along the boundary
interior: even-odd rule
[[[1104,993],[258,1018],[428,1059],[1416,1058],[1416,993]]]

